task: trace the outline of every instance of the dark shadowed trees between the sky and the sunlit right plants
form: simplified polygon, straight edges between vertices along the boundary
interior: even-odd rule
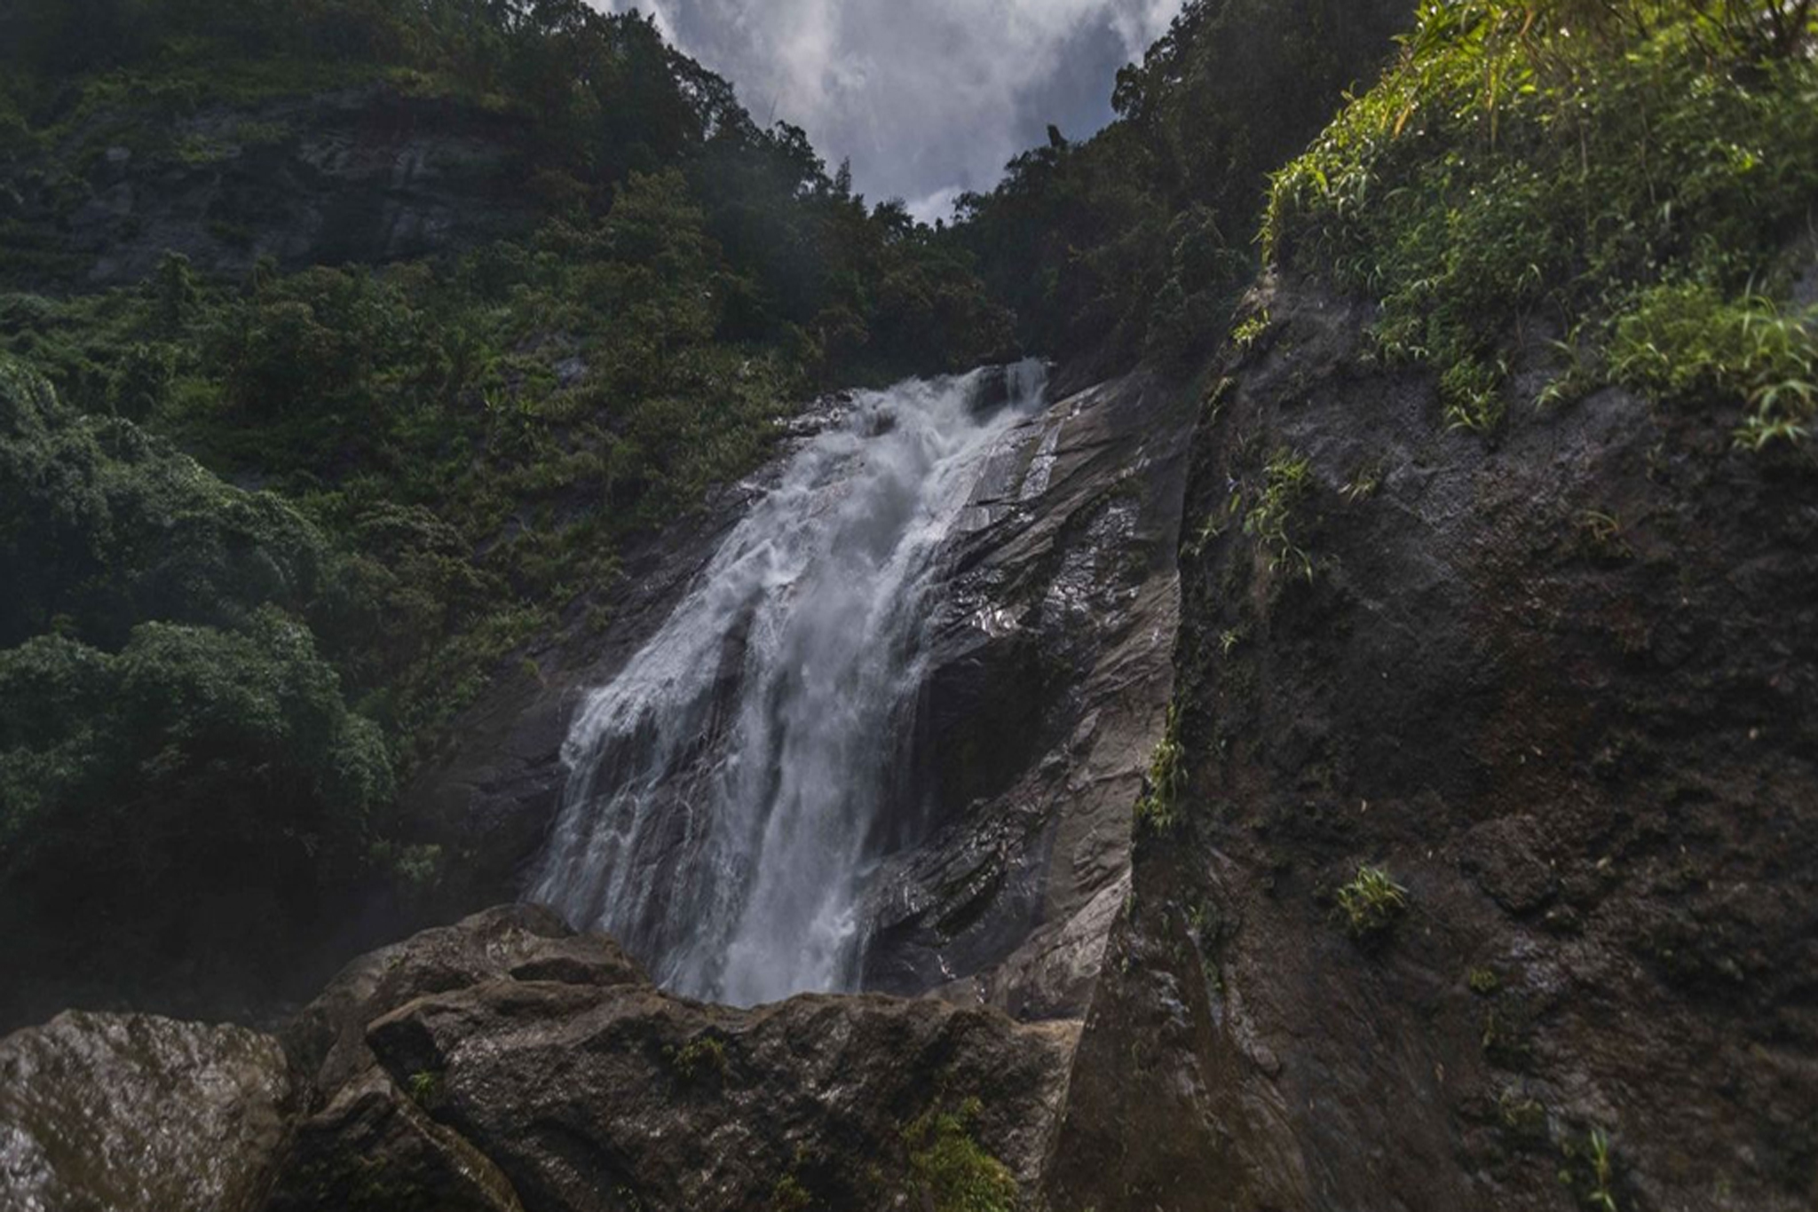
[[[960,238],[1034,349],[1204,354],[1256,273],[1269,173],[1373,80],[1411,0],[1191,0],[1104,133],[962,200]]]

